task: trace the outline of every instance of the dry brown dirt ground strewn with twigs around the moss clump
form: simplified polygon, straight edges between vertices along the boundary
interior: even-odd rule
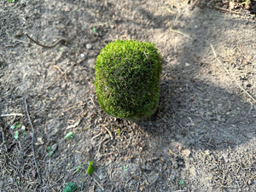
[[[255,1],[0,1],[0,191],[256,191],[255,12]],[[163,55],[156,119],[115,119],[96,102],[96,56],[114,39]]]

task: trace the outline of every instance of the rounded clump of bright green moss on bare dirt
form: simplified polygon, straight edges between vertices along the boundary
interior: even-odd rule
[[[120,119],[145,119],[156,110],[162,59],[154,44],[116,40],[96,58],[96,95]]]

